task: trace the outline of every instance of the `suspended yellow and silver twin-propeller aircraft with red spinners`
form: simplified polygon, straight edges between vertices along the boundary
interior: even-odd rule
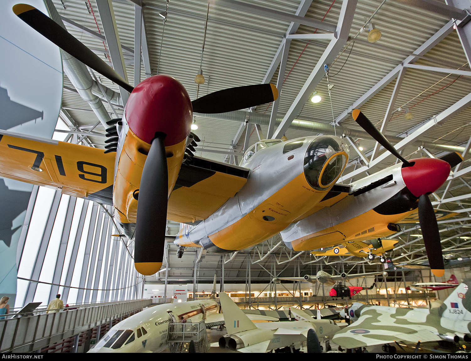
[[[122,119],[106,129],[106,152],[2,131],[0,175],[113,205],[116,224],[135,239],[139,273],[154,274],[162,266],[166,219],[192,224],[175,241],[180,256],[188,246],[214,253],[245,249],[280,232],[288,247],[310,250],[394,233],[396,222],[417,208],[417,200],[430,266],[443,272],[427,194],[446,180],[449,163],[458,162],[455,153],[446,161],[409,162],[355,110],[360,126],[402,160],[402,167],[335,185],[348,160],[347,144],[335,136],[258,142],[245,152],[243,167],[194,157],[188,150],[198,140],[190,134],[193,111],[230,112],[265,104],[277,98],[276,87],[230,88],[193,101],[169,76],[156,75],[133,88],[36,8],[18,4],[13,11],[130,96]]]

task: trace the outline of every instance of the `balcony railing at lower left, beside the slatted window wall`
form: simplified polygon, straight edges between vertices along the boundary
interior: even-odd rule
[[[8,314],[5,320],[0,320],[0,352],[33,352],[149,305],[152,300],[143,299],[74,305],[59,312],[38,310],[32,316]]]

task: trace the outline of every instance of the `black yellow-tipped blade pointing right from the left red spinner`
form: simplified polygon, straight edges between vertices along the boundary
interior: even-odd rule
[[[277,98],[278,90],[273,84],[257,84],[215,91],[193,100],[191,105],[197,113],[225,113],[270,103]]]

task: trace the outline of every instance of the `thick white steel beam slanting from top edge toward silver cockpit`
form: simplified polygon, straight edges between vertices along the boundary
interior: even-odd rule
[[[342,8],[339,16],[339,21],[337,24],[336,34],[337,39],[331,40],[329,45],[325,49],[322,56],[317,61],[314,70],[309,75],[308,79],[302,86],[298,96],[296,96],[292,106],[284,116],[282,122],[276,129],[275,138],[280,138],[283,136],[286,129],[291,125],[292,120],[298,115],[304,103],[308,100],[311,93],[316,88],[319,81],[322,80],[325,76],[324,65],[331,64],[335,59],[335,56],[339,53],[341,48],[345,45],[349,37],[349,32],[351,24],[353,21],[353,15],[355,14],[355,9],[357,7],[357,0],[344,0],[342,3]]]

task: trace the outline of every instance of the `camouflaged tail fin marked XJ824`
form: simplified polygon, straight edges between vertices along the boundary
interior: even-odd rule
[[[443,317],[455,321],[471,321],[471,279],[464,280],[453,289],[450,296],[443,302]],[[448,312],[447,312],[448,311]]]

